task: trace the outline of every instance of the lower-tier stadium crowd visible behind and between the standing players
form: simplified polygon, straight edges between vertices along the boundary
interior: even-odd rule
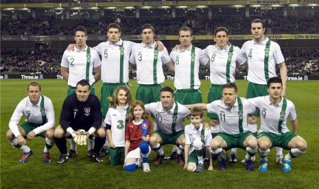
[[[170,49],[170,47],[168,47]],[[307,75],[319,72],[319,49],[283,49],[283,55],[287,64],[288,75],[296,75],[306,72]],[[1,73],[49,73],[60,74],[60,61],[62,51],[52,51],[50,49],[33,51],[1,51]],[[165,69],[168,71],[168,69]],[[239,66],[237,73],[246,73],[245,66]],[[134,73],[134,68],[131,71]],[[209,69],[200,67],[200,73],[209,75]]]

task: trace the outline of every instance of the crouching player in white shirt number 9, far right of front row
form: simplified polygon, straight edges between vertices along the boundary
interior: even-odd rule
[[[259,171],[268,171],[267,155],[272,147],[282,147],[290,152],[283,158],[283,171],[291,171],[292,158],[303,155],[307,150],[307,142],[298,136],[298,121],[294,103],[281,96],[283,83],[281,78],[268,80],[269,95],[249,99],[261,111],[261,127],[258,131],[258,146],[261,162]],[[292,132],[287,128],[290,118]]]

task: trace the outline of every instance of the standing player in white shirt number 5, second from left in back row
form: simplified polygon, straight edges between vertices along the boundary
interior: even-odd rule
[[[101,79],[101,106],[102,116],[108,112],[109,101],[107,97],[113,96],[115,88],[126,86],[128,88],[128,59],[135,42],[121,40],[121,27],[117,23],[111,23],[106,28],[108,40],[101,42],[94,47],[99,55],[102,56]]]

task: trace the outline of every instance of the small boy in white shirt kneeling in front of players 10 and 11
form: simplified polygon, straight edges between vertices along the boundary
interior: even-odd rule
[[[185,127],[185,166],[186,171],[201,173],[204,171],[204,155],[209,151],[211,143],[211,131],[204,129],[202,125],[203,112],[200,108],[192,108],[189,111],[191,124]],[[209,171],[213,170],[213,160],[209,153]]]

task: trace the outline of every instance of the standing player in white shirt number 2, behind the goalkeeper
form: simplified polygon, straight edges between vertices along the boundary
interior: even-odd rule
[[[84,27],[76,27],[73,31],[75,40],[74,51],[64,51],[61,61],[61,75],[67,80],[69,85],[67,95],[72,95],[75,92],[75,85],[81,79],[86,79],[91,85],[91,92],[95,95],[93,84],[101,77],[101,60],[97,52],[86,45],[88,39],[87,31]],[[93,75],[93,71],[95,75]],[[70,140],[71,150],[70,157],[78,154],[76,144]],[[91,154],[93,149],[93,139],[88,140],[88,154]]]

